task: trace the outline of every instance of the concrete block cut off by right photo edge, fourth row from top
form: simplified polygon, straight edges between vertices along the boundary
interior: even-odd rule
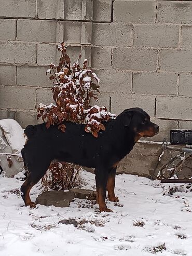
[[[179,95],[192,97],[192,75],[180,74]]]

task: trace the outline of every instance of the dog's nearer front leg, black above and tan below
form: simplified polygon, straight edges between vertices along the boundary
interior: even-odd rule
[[[95,181],[97,187],[97,203],[100,211],[112,212],[105,204],[106,190],[107,190],[108,170],[105,168],[95,169]]]

